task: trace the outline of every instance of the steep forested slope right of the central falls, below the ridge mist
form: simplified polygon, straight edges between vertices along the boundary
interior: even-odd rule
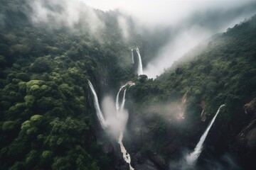
[[[129,92],[130,100],[136,103],[130,106],[134,112],[130,130],[137,134],[137,149],[145,157],[149,152],[171,160],[181,157],[184,147],[196,146],[218,106],[225,103],[201,158],[220,159],[228,152],[242,159],[235,139],[250,122],[243,106],[256,96],[255,30],[256,16],[213,36],[206,47],[188,52],[186,58],[155,80],[145,76],[137,80],[137,86]],[[182,109],[185,113],[180,117]],[[206,162],[200,159],[198,164]],[[251,159],[241,164],[255,167]]]

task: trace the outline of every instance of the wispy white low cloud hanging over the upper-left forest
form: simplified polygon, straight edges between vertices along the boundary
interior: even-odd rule
[[[95,36],[105,28],[105,23],[94,9],[80,0],[27,0],[27,4],[32,8],[31,21],[38,26],[47,26],[50,29],[65,27]]]

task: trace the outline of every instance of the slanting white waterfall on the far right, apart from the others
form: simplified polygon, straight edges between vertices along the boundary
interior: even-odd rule
[[[215,114],[215,116],[213,117],[213,120],[210,121],[210,124],[208,125],[206,131],[203,133],[203,135],[201,136],[198,144],[196,145],[196,148],[194,149],[194,151],[191,154],[188,154],[186,157],[186,162],[190,165],[195,165],[196,161],[198,159],[198,157],[200,156],[202,150],[203,150],[203,142],[206,140],[206,137],[208,135],[208,132],[210,130],[210,127],[213,125],[215,118],[217,117],[218,113],[220,112],[220,108],[222,108],[225,105],[221,105],[218,108],[217,113]]]

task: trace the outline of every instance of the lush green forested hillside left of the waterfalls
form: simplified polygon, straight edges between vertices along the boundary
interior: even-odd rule
[[[100,94],[134,77],[129,45],[117,23],[101,41],[38,27],[23,2],[1,2],[0,169],[112,169],[97,145],[87,79]],[[106,22],[118,15],[95,13]]]

